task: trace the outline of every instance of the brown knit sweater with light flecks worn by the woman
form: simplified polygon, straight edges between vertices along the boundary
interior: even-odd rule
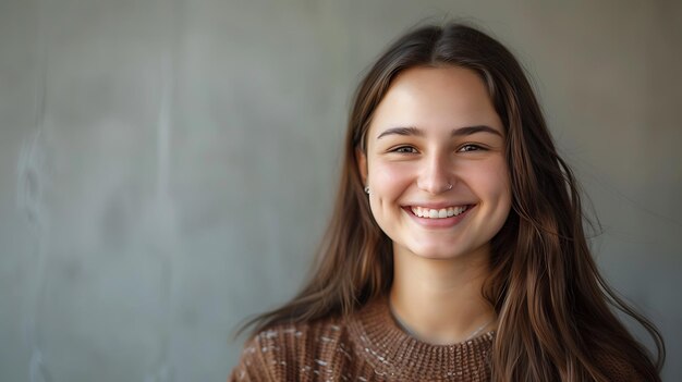
[[[403,332],[381,300],[346,320],[259,333],[246,343],[229,381],[489,381],[494,336],[429,345]]]

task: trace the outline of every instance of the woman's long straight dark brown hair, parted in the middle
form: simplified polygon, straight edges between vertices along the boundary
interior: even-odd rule
[[[585,238],[577,183],[557,153],[523,69],[500,42],[461,24],[410,32],[366,74],[352,106],[339,194],[312,279],[290,303],[247,325],[261,331],[285,321],[345,316],[388,294],[392,246],[372,217],[357,152],[392,79],[410,67],[442,65],[480,76],[507,131],[512,209],[492,238],[491,273],[483,291],[499,318],[494,380],[608,381],[608,359],[660,381],[662,337],[599,274]],[[611,306],[650,333],[656,362]]]

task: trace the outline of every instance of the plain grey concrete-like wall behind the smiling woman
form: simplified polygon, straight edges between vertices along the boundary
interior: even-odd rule
[[[224,381],[301,285],[351,94],[421,20],[516,53],[682,380],[679,1],[0,0],[0,380]]]

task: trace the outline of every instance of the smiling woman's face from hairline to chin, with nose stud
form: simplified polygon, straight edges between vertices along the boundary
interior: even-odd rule
[[[480,77],[458,66],[394,78],[360,167],[394,252],[489,256],[511,206],[504,130]]]

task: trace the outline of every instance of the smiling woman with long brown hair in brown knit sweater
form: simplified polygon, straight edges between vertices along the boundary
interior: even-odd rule
[[[344,149],[316,272],[252,321],[231,380],[660,380],[660,334],[599,275],[573,174],[498,41],[458,24],[400,38]]]

